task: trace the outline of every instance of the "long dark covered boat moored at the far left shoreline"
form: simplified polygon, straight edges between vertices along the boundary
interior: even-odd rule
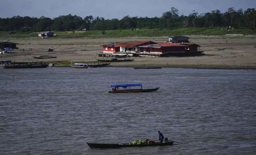
[[[1,64],[3,68],[47,68],[48,64],[42,61],[31,62],[4,62]]]

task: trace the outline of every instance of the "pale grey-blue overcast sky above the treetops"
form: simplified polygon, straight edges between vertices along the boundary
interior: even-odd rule
[[[0,17],[30,16],[58,17],[78,15],[122,19],[125,15],[138,17],[160,17],[171,7],[179,14],[188,15],[192,10],[198,13],[229,7],[247,9],[256,7],[256,0],[1,0]]]

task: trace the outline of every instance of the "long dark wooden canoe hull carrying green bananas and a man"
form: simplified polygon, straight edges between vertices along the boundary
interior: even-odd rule
[[[121,148],[121,147],[145,147],[145,146],[172,146],[173,142],[153,143],[153,144],[100,144],[100,143],[87,143],[89,147],[94,148]]]

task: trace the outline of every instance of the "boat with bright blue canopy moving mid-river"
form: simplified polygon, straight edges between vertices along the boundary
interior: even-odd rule
[[[130,89],[130,87],[140,86],[140,89]],[[160,87],[153,88],[153,89],[142,89],[142,83],[132,83],[132,84],[122,84],[122,85],[111,85],[112,88],[109,93],[139,93],[139,92],[152,92],[157,91]],[[118,90],[119,87],[124,89]],[[127,89],[129,87],[129,89]]]

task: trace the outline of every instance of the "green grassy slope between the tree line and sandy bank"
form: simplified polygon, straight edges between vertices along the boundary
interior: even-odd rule
[[[57,34],[61,38],[83,38],[83,37],[156,37],[156,36],[173,36],[173,35],[224,35],[224,34],[256,34],[256,29],[235,29],[235,30],[219,30],[216,28],[176,28],[170,29],[139,29],[139,30],[105,30],[105,33],[101,30],[86,31],[86,32],[58,32]],[[8,32],[0,32],[0,37],[4,38],[31,38],[38,37],[38,32],[18,32],[15,35],[6,35]],[[57,38],[59,38],[57,37]]]

